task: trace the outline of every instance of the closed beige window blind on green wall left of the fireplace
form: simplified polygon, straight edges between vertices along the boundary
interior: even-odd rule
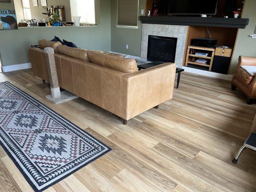
[[[118,0],[117,25],[138,25],[139,0]]]

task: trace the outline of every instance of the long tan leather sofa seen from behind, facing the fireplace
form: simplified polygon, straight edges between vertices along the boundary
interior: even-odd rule
[[[46,46],[56,44],[39,41],[40,48],[29,51],[34,74],[49,82],[42,49]],[[138,71],[136,61],[122,55],[62,45],[57,45],[54,55],[61,88],[121,117],[124,124],[172,98],[174,63]]]

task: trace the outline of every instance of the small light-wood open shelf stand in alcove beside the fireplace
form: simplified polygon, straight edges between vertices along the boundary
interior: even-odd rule
[[[195,52],[196,51],[200,52],[200,50],[204,53],[208,53],[208,56],[195,55]],[[185,66],[187,66],[188,64],[199,65],[202,67],[207,67],[209,68],[209,71],[211,71],[214,55],[215,55],[215,48],[188,46]],[[195,62],[195,58],[206,59],[208,60],[208,62],[207,64]]]

